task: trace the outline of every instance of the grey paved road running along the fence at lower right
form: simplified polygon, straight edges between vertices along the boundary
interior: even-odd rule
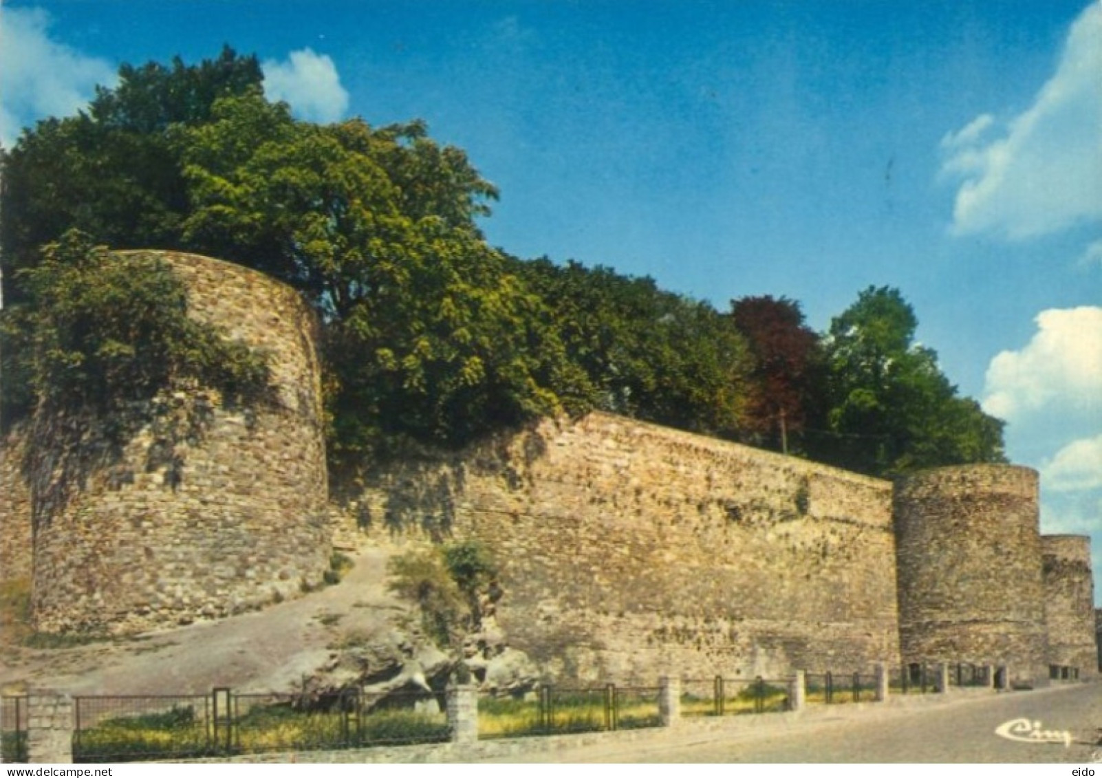
[[[685,732],[653,741],[606,743],[543,754],[532,761],[637,763],[1078,763],[1100,746],[1102,683],[958,699],[918,707],[864,706],[818,712],[754,731]],[[1017,743],[995,734],[1027,718],[1068,731],[1070,746]]]

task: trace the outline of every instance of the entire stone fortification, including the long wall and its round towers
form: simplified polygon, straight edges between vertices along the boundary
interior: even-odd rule
[[[278,399],[235,409],[201,388],[160,396],[133,409],[141,423],[110,456],[86,420],[39,414],[3,441],[0,579],[33,573],[44,631],[227,615],[294,596],[327,566],[309,309],[250,270],[161,256],[193,315],[270,353]],[[498,625],[561,678],[900,659],[1037,679],[1048,664],[1094,667],[1089,547],[1042,547],[1026,468],[941,468],[894,486],[592,413],[406,458],[341,505],[369,537],[485,542],[503,569]]]

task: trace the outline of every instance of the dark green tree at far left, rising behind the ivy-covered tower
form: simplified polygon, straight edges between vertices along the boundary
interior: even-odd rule
[[[116,249],[183,248],[187,188],[170,130],[205,122],[215,99],[259,89],[260,65],[225,47],[215,60],[122,65],[86,111],[46,119],[2,160],[0,269],[4,304],[28,292],[17,270],[71,228]]]

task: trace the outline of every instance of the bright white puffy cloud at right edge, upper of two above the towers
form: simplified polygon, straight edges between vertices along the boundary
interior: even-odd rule
[[[1046,410],[1098,418],[1102,398],[1102,307],[1051,309],[1025,348],[987,367],[984,410],[1016,421]]]

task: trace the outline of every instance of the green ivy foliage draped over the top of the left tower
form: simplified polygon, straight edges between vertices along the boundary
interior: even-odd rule
[[[267,391],[264,355],[191,318],[155,256],[119,257],[71,230],[22,274],[33,304],[20,371],[40,402],[106,413],[187,381],[230,403]]]

